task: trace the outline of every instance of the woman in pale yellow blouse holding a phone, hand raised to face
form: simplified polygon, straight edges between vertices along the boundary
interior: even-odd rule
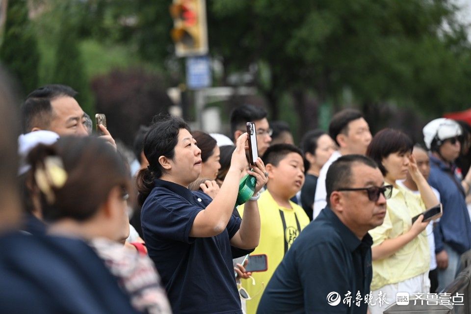
[[[396,301],[397,292],[428,293],[430,254],[423,216],[412,224],[412,217],[426,208],[438,204],[438,200],[420,173],[412,157],[413,142],[405,133],[384,129],[371,140],[366,155],[373,158],[383,173],[386,184],[392,184],[392,197],[387,200],[384,223],[371,230],[373,237],[373,280],[371,290],[375,305],[369,306],[371,314],[383,313],[387,303]],[[409,172],[417,184],[420,196],[396,184]],[[381,292],[380,292],[381,291]],[[386,304],[378,297],[385,295]],[[381,302],[382,303],[382,302]]]

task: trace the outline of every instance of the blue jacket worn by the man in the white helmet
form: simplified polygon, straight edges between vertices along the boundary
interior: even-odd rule
[[[441,252],[446,243],[458,254],[463,254],[471,249],[471,221],[463,187],[455,176],[454,167],[431,154],[429,157],[428,183],[440,192],[443,204],[443,215],[433,228],[435,252]]]

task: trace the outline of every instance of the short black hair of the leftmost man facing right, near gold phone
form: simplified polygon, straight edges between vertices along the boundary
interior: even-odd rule
[[[57,97],[74,98],[76,95],[77,92],[72,87],[60,84],[46,85],[32,91],[21,107],[23,133],[30,132],[36,126],[49,127],[52,118],[51,101]]]

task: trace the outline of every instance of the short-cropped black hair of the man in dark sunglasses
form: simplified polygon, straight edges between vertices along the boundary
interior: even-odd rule
[[[349,186],[353,183],[352,167],[356,163],[361,163],[371,168],[378,168],[376,162],[363,155],[345,155],[334,161],[325,178],[325,189],[327,192],[327,205],[330,206],[330,195],[333,191],[338,190],[342,186]]]

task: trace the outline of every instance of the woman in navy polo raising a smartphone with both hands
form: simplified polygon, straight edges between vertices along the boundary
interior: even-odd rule
[[[231,246],[250,253],[259,242],[258,191],[267,182],[258,159],[255,196],[243,219],[232,213],[242,171],[247,167],[247,134],[237,139],[231,167],[219,192],[188,189],[201,173],[201,150],[180,118],[157,121],[146,134],[147,169],[137,175],[141,222],[149,256],[156,263],[174,313],[242,313]],[[204,189],[203,189],[204,191]]]

